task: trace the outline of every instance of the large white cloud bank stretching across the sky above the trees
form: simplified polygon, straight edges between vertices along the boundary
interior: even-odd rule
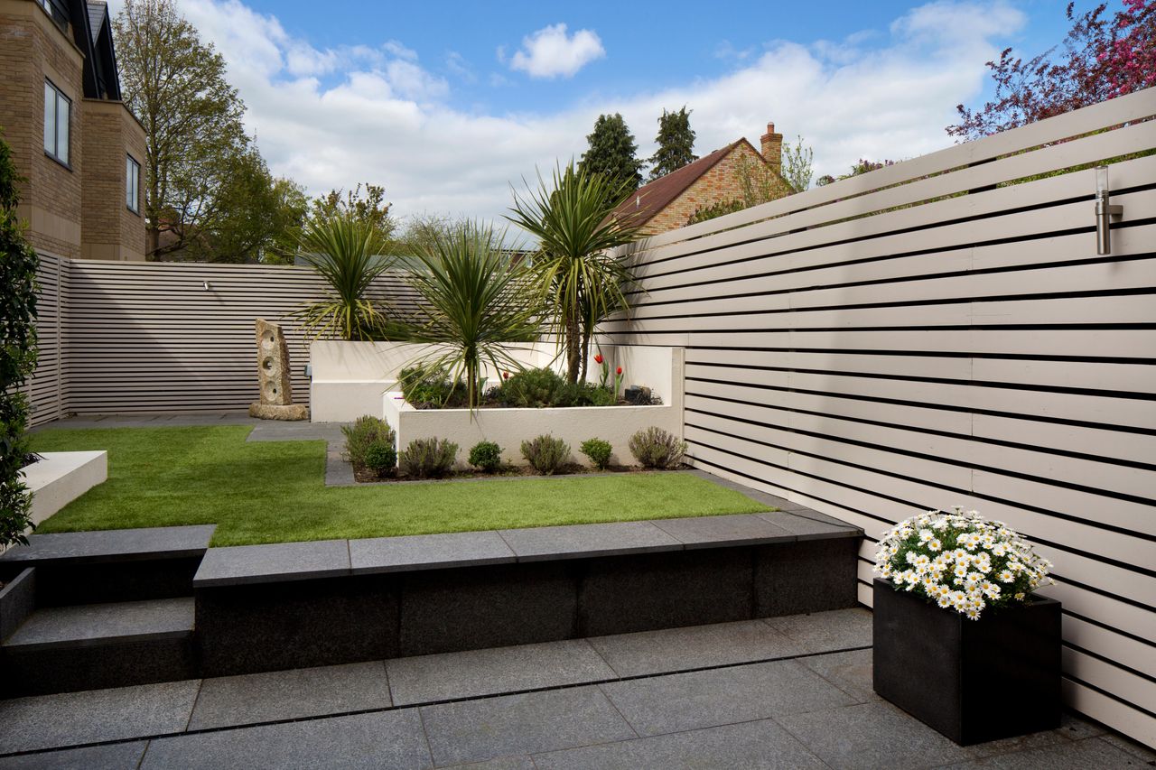
[[[183,0],[181,10],[229,62],[249,106],[246,124],[275,173],[318,194],[358,182],[381,184],[399,215],[423,210],[498,219],[511,183],[580,156],[599,113],[621,112],[653,153],[662,109],[694,110],[704,155],[746,135],[756,146],[768,120],[815,148],[816,173],[842,173],[860,157],[903,158],[950,143],[954,105],[980,92],[996,35],[1023,18],[1002,2],[922,6],[870,38],[770,42],[732,69],[679,88],[588,98],[553,112],[492,114],[454,108],[445,80],[405,46],[318,50],[273,16],[237,0]],[[950,23],[934,23],[939,18]],[[1003,25],[1003,29],[999,27]],[[400,45],[400,44],[399,44]],[[451,69],[452,71],[452,69]],[[324,79],[323,79],[324,75]],[[482,75],[502,84],[497,73]],[[486,81],[482,81],[486,82]]]

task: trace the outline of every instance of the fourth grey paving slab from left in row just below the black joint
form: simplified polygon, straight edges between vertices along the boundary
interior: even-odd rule
[[[854,698],[794,660],[599,686],[639,735],[830,709]]]

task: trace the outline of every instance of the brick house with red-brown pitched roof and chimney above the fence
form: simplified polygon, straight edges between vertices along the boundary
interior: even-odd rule
[[[746,139],[732,142],[643,185],[615,210],[643,224],[646,235],[686,227],[701,208],[742,199],[743,164],[766,169],[781,180],[783,134],[775,133],[773,123],[766,124],[762,146],[759,153]]]

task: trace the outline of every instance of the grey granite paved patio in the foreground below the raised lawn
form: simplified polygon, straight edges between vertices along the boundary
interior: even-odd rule
[[[0,702],[0,769],[1142,768],[1068,716],[962,748],[880,701],[866,609]]]

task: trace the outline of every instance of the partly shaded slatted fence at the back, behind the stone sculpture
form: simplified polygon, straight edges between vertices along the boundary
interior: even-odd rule
[[[325,296],[312,269],[64,260],[61,271],[66,355],[57,375],[42,338],[35,383],[61,390],[62,412],[245,409],[258,398],[257,318],[282,324],[294,399],[309,402],[307,341],[291,313]],[[50,296],[46,286],[42,291],[43,303]],[[370,295],[402,311],[414,305],[412,290],[393,273],[378,279]],[[47,392],[37,406],[51,410]]]

